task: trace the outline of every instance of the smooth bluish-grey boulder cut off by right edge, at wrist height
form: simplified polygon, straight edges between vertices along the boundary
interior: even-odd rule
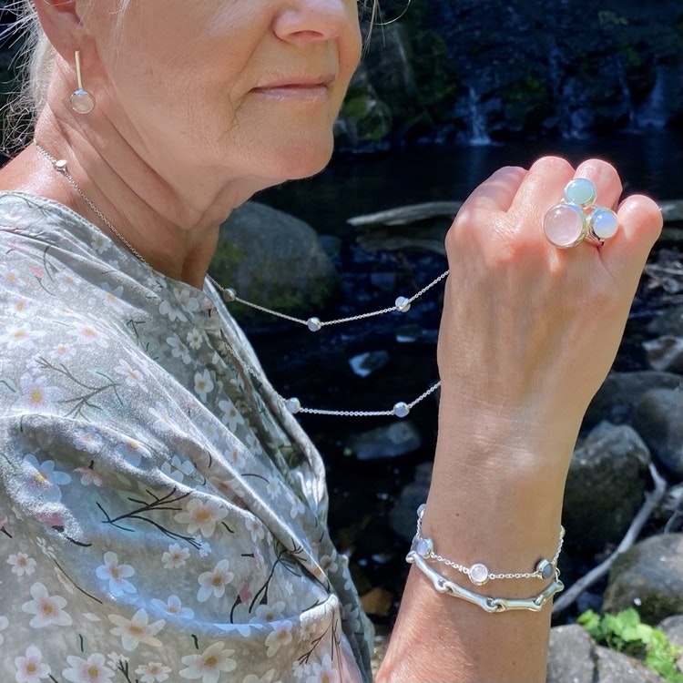
[[[632,423],[653,457],[669,472],[683,477],[683,391],[651,389],[645,392]]]

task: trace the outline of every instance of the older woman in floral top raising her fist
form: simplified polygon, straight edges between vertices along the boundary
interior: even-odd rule
[[[206,279],[231,209],[330,157],[355,0],[26,5],[35,144],[0,173],[2,680],[368,681],[320,456]],[[632,196],[602,245],[594,202],[620,194],[603,161],[543,158],[454,220],[433,487],[382,680],[544,678],[567,465],[661,228]]]

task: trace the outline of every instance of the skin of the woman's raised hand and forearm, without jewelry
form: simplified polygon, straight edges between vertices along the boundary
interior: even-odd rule
[[[575,171],[543,158],[528,171],[494,173],[446,239],[439,435],[422,530],[464,566],[524,572],[553,556],[576,433],[662,227],[657,205],[633,196],[617,209],[612,240],[557,249],[542,222],[575,177],[595,183],[599,205],[616,206],[621,182],[604,161]],[[438,570],[467,585],[448,566]],[[492,581],[481,594],[529,598],[542,589]],[[490,615],[438,593],[413,567],[377,680],[540,683],[549,627],[549,606]]]

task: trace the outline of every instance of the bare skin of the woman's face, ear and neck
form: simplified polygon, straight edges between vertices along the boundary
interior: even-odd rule
[[[332,124],[360,59],[357,5],[145,0],[123,15],[117,6],[36,3],[59,53],[36,139],[68,160],[146,260],[200,286],[231,209],[330,159]],[[76,49],[97,100],[87,115],[68,107]],[[64,178],[45,172],[29,148],[0,182],[80,208]]]

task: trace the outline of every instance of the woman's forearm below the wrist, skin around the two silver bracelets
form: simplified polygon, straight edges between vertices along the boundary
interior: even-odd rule
[[[433,539],[439,555],[463,566],[481,562],[496,573],[533,571],[539,559],[550,559],[556,552],[566,473],[548,470],[520,476],[515,462],[543,463],[544,454],[498,443],[495,456],[506,464],[495,465],[499,472],[492,474],[494,439],[489,445],[479,439],[469,446],[466,442],[461,437],[454,443],[445,433],[439,439],[422,535]],[[571,450],[572,445],[556,447]],[[457,459],[454,447],[469,450]],[[474,586],[443,563],[430,566],[459,586],[494,597],[535,596],[552,580],[498,579]],[[489,614],[461,598],[438,593],[413,566],[377,680],[543,681],[550,607],[548,603],[540,612]]]

